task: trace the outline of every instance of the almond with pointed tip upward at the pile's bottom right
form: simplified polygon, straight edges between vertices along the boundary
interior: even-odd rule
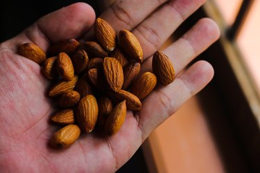
[[[122,127],[126,116],[126,105],[125,100],[116,104],[111,113],[107,116],[105,121],[105,133],[107,135],[116,134]]]

